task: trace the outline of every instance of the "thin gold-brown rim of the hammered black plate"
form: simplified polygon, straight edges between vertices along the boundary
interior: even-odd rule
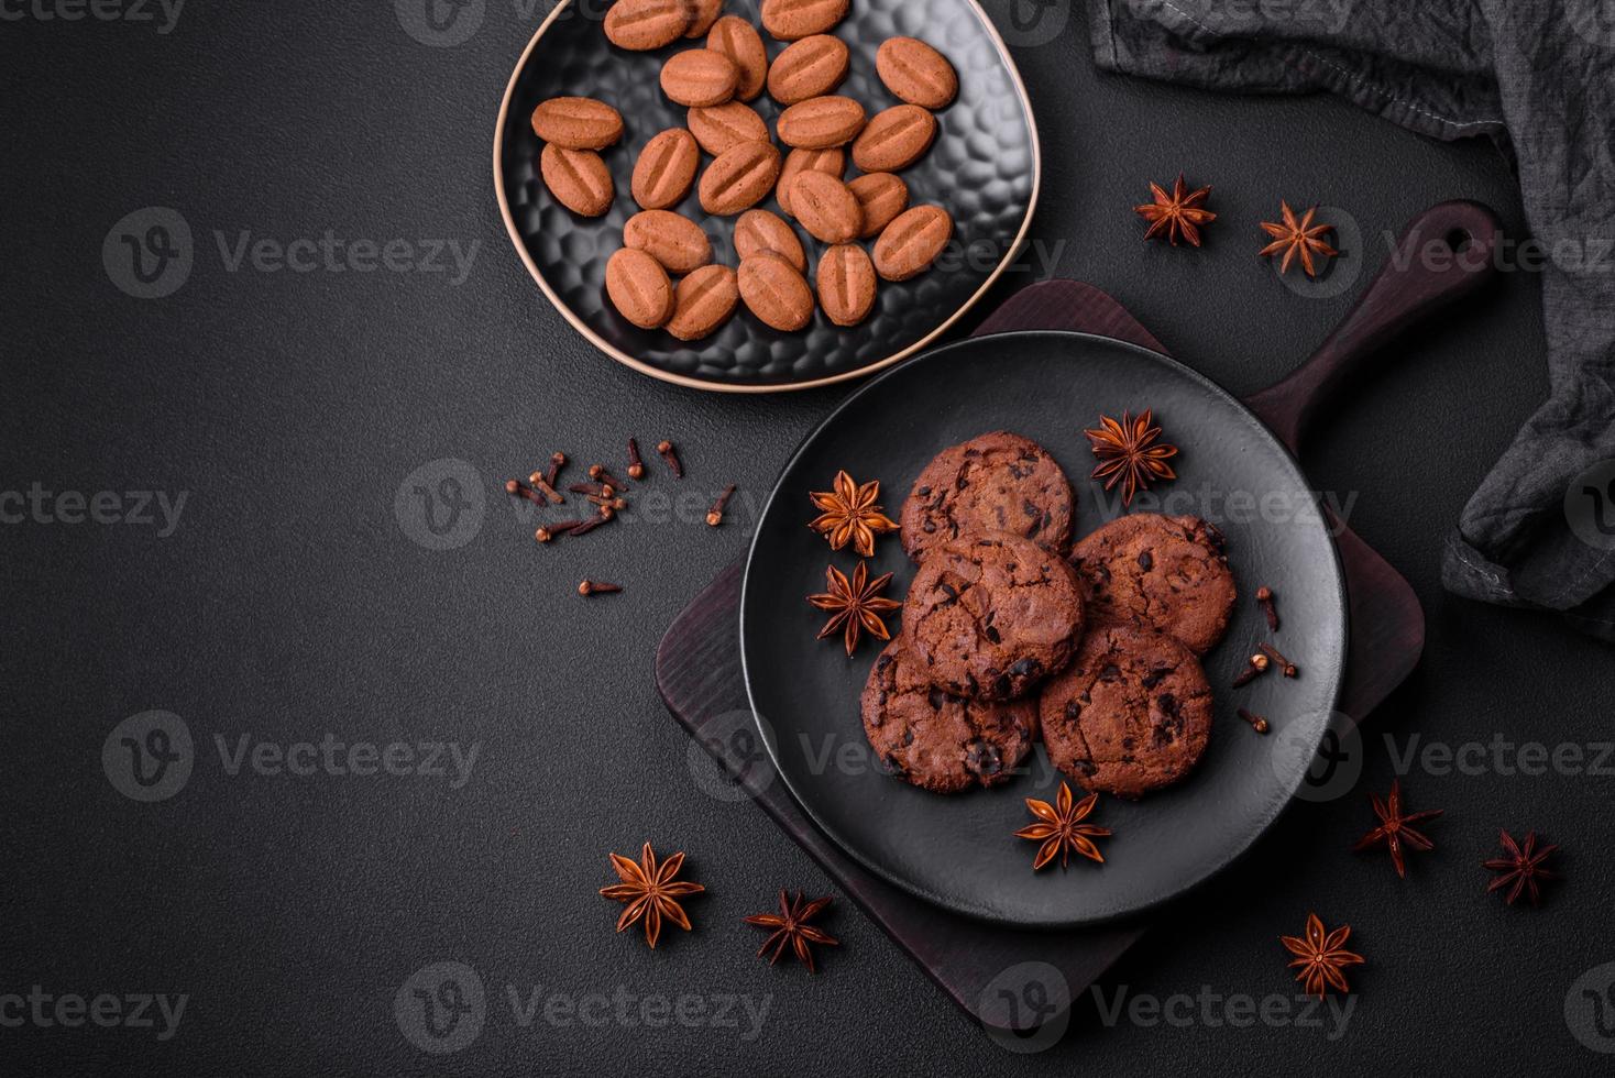
[[[615,347],[614,344],[601,337],[588,326],[588,323],[585,323],[577,315],[577,311],[573,311],[570,307],[567,307],[565,302],[562,302],[560,295],[549,286],[547,281],[544,281],[544,274],[539,273],[538,265],[533,261],[533,255],[526,249],[526,242],[517,231],[515,218],[510,213],[510,198],[507,197],[504,186],[504,132],[507,118],[510,115],[510,98],[515,97],[515,86],[517,81],[520,81],[522,73],[526,69],[526,61],[531,58],[533,50],[538,48],[539,39],[543,39],[544,34],[549,31],[551,24],[560,18],[562,11],[572,6],[573,0],[560,0],[560,3],[556,5],[554,11],[551,11],[544,18],[538,31],[526,42],[526,48],[522,50],[520,58],[517,58],[515,61],[515,69],[510,73],[510,79],[505,82],[504,97],[499,102],[499,118],[494,121],[494,200],[499,203],[499,216],[504,219],[505,234],[510,237],[510,244],[512,247],[515,247],[517,257],[522,260],[522,265],[526,266],[526,271],[533,278],[533,281],[538,282],[538,287],[549,300],[549,305],[554,307],[557,311],[560,311],[560,316],[565,318],[573,329],[583,334],[585,341],[593,344],[596,349],[599,349],[610,358],[617,360],[619,363],[635,371],[640,371],[641,374],[649,374],[657,381],[672,382],[675,386],[685,386],[688,389],[704,389],[707,392],[722,392],[722,394],[796,392],[799,389],[817,389],[820,386],[833,386],[837,382],[851,381],[854,378],[866,378],[874,371],[888,368],[895,363],[901,363],[911,355],[916,355],[927,345],[933,344],[948,329],[951,329],[954,323],[964,318],[964,315],[969,313],[969,310],[975,307],[984,295],[987,295],[987,290],[998,282],[998,278],[1001,278],[1005,271],[1021,255],[1022,249],[1026,247],[1027,232],[1032,229],[1032,216],[1037,213],[1038,195],[1043,189],[1043,148],[1037,134],[1037,113],[1032,111],[1032,98],[1027,95],[1026,82],[1021,79],[1021,68],[1016,66],[1014,56],[1009,55],[1009,47],[1005,44],[1003,36],[998,34],[998,27],[993,26],[993,21],[987,18],[987,11],[982,8],[982,5],[977,0],[963,0],[963,2],[975,15],[975,19],[987,31],[988,39],[998,50],[998,56],[1003,60],[1005,68],[1009,71],[1009,81],[1014,86],[1014,92],[1021,102],[1021,108],[1026,111],[1027,127],[1032,132],[1032,194],[1027,198],[1026,215],[1021,218],[1021,229],[1016,232],[1014,242],[1005,252],[1005,257],[998,261],[993,271],[987,274],[987,279],[982,281],[982,286],[975,289],[975,292],[964,302],[963,307],[959,307],[959,310],[948,315],[948,318],[945,318],[935,329],[932,329],[929,334],[925,334],[909,347],[903,349],[901,352],[883,357],[872,363],[866,363],[859,368],[841,371],[838,374],[830,374],[825,378],[814,378],[809,381],[775,382],[767,386],[733,386],[727,382],[691,378],[690,374],[675,374],[672,371],[664,371],[657,366],[651,366],[644,360],[640,360],[638,357],[623,352],[622,349]]]

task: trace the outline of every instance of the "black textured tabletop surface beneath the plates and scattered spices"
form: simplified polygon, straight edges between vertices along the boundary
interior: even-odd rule
[[[1034,270],[1127,303],[1171,350],[1237,392],[1290,370],[1366,281],[1303,299],[1253,257],[1279,197],[1342,207],[1378,263],[1386,229],[1473,197],[1523,232],[1486,145],[1439,145],[1328,98],[1229,98],[1095,76],[1080,13],[1042,8],[1011,34],[1038,111],[1043,203]],[[18,8],[6,8],[16,11]],[[1370,965],[1347,1034],[1195,1018],[1105,1028],[1084,996],[1066,1039],[1014,1057],[988,1041],[845,902],[843,946],[809,980],[751,957],[780,884],[824,878],[756,808],[703,792],[651,683],[662,628],[724,565],[798,437],[837,391],[735,399],[673,389],[596,355],[552,313],[504,236],[489,145],[515,56],[538,26],[484,0],[467,42],[428,47],[394,6],[192,0],[152,23],[0,23],[5,491],[189,491],[178,531],[0,528],[8,871],[0,992],[187,992],[178,1034],[0,1028],[8,1073],[1282,1073],[1605,1065],[1563,1018],[1571,983],[1615,959],[1607,825],[1615,779],[1426,775],[1439,849],[1399,881],[1345,846],[1358,791],[1298,805],[1234,875],[1197,894],[1114,970],[1132,992],[1289,994],[1279,933],[1308,909],[1350,921]],[[1022,26],[1027,11],[1021,11]],[[465,15],[462,18],[470,18]],[[1205,250],[1143,245],[1127,207],[1179,168],[1216,186]],[[166,205],[195,234],[189,281],[124,295],[102,240]],[[281,242],[476,242],[468,279],[262,273],[221,263],[215,231]],[[1050,257],[1037,265],[1037,255]],[[1537,282],[1399,347],[1318,431],[1316,484],[1358,492],[1352,526],[1416,586],[1424,663],[1379,713],[1399,749],[1609,739],[1607,647],[1546,616],[1439,587],[1458,508],[1544,394]],[[966,402],[961,402],[961,407]],[[1072,424],[1087,418],[1072,402]],[[627,434],[685,447],[699,502],[741,486],[735,526],[699,508],[556,549],[496,481],[552,449],[620,458]],[[394,520],[418,466],[470,462],[486,483],[475,539],[426,550]],[[657,489],[670,486],[657,478]],[[754,500],[753,500],[754,499]],[[678,515],[675,513],[675,518]],[[580,576],[619,579],[583,602]],[[102,742],[166,708],[199,758],[171,800],[118,794]],[[229,776],[213,736],[276,742],[476,741],[459,791],[439,779]],[[1370,737],[1365,788],[1392,763]],[[1539,912],[1481,892],[1499,826],[1549,833],[1570,881]],[[657,952],[610,931],[606,850],[691,852],[709,896]],[[945,855],[945,852],[938,852]],[[401,1036],[392,994],[417,968],[473,965],[491,1013],[433,1059]],[[504,986],[544,994],[770,994],[735,1030],[517,1028]],[[1195,1009],[1198,1010],[1198,1009]]]

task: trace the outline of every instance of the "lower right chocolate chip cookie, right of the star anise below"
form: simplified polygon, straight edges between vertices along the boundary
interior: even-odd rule
[[[1098,625],[1043,686],[1048,758],[1087,791],[1142,797],[1193,770],[1211,734],[1200,660],[1164,633]]]

